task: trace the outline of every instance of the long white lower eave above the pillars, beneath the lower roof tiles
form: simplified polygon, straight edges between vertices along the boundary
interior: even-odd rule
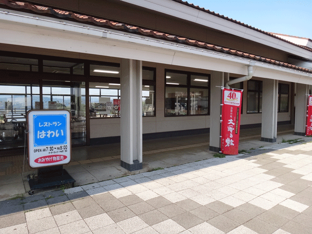
[[[255,71],[256,77],[312,85],[312,74],[305,72],[116,30],[25,13],[20,15],[20,12],[4,14],[0,11],[0,31],[3,44],[137,59],[241,75],[247,75],[246,65],[253,62],[254,70],[261,68]]]

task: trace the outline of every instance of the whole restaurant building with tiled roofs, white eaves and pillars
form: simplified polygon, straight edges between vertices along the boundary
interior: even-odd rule
[[[220,87],[244,76],[231,86],[244,90],[241,127],[261,126],[270,142],[277,124],[305,134],[311,39],[182,0],[0,0],[0,32],[2,155],[23,150],[31,109],[69,110],[73,146],[120,138],[130,171],[142,167],[142,138],[210,131],[219,151]]]

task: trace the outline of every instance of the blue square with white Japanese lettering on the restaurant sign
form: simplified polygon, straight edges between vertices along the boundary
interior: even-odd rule
[[[34,147],[67,144],[68,115],[34,115]]]

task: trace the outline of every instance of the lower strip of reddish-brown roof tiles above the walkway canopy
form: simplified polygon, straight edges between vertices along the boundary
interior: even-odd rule
[[[176,0],[176,1],[179,1],[179,0]],[[213,51],[221,52],[224,54],[230,54],[230,55],[234,55],[234,56],[238,56],[238,57],[242,57],[242,58],[246,58],[246,59],[253,59],[253,60],[257,60],[257,61],[261,61],[261,62],[265,62],[265,63],[270,63],[270,64],[282,66],[282,67],[287,67],[287,68],[292,68],[292,69],[299,70],[299,71],[312,73],[311,69],[302,68],[302,67],[292,65],[289,63],[285,63],[285,62],[281,62],[281,61],[276,61],[274,59],[264,58],[261,56],[256,56],[256,55],[252,55],[249,53],[244,53],[241,51],[233,50],[230,48],[224,48],[221,46],[216,46],[216,45],[209,44],[209,43],[202,42],[202,41],[198,41],[198,40],[181,38],[181,37],[177,37],[177,36],[166,34],[166,33],[156,32],[154,30],[143,29],[140,27],[127,25],[124,23],[118,23],[118,22],[113,22],[110,20],[98,19],[98,18],[91,17],[91,16],[80,15],[80,14],[73,13],[73,12],[68,12],[68,11],[63,11],[63,10],[58,10],[58,9],[52,9],[49,7],[38,6],[38,5],[26,3],[26,2],[17,2],[17,1],[13,1],[13,0],[0,0],[0,4],[4,4],[10,8],[14,8],[14,9],[20,9],[20,10],[21,9],[28,9],[32,12],[36,12],[36,13],[40,13],[40,14],[51,14],[57,18],[60,18],[60,19],[73,19],[73,20],[76,20],[79,22],[89,22],[89,23],[93,23],[93,24],[95,24],[97,26],[101,26],[101,27],[112,28],[115,30],[126,31],[129,33],[137,33],[140,35],[153,37],[153,38],[160,38],[160,39],[165,39],[165,40],[170,40],[170,41],[176,41],[178,43],[184,43],[184,44],[192,45],[195,47],[201,47],[204,49],[213,50]],[[189,3],[187,3],[187,4],[189,4]]]

